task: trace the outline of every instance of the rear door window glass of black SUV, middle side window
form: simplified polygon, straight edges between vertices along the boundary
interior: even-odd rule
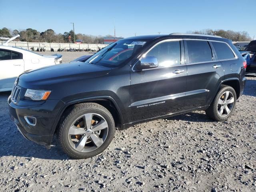
[[[189,63],[212,61],[212,49],[208,41],[187,40]]]

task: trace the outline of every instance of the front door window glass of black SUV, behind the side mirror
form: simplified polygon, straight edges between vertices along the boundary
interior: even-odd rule
[[[160,67],[180,64],[180,41],[160,43],[152,48],[147,56],[155,56]]]

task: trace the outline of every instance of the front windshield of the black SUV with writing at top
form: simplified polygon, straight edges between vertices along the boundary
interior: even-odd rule
[[[136,54],[145,43],[145,40],[119,40],[91,56],[86,60],[86,63],[108,67],[119,66],[121,63]]]

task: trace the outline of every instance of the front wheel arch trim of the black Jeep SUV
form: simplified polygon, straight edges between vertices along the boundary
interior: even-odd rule
[[[118,129],[122,129],[124,125],[124,118],[117,102],[110,96],[100,96],[100,97],[93,97],[93,98],[76,99],[76,100],[66,102],[65,105],[60,110],[58,116],[56,117],[54,125],[52,126],[51,134],[54,134],[57,131],[57,127],[60,124],[60,122],[62,122],[63,117],[65,116],[65,113],[68,110],[70,110],[72,106],[74,106],[75,104],[88,103],[88,102],[94,102],[104,106],[112,114],[115,121],[115,126],[118,127]]]

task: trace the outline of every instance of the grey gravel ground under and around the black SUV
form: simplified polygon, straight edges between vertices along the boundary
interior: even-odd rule
[[[0,93],[0,191],[256,191],[256,77],[247,79],[228,122],[196,111],[138,124],[86,160],[70,159],[56,138],[51,150],[23,138],[10,92]]]

